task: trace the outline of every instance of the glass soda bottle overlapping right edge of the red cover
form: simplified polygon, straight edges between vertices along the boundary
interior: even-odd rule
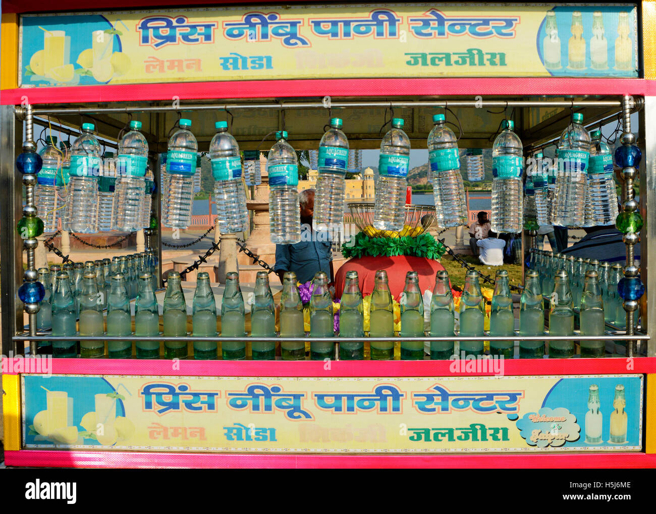
[[[430,300],[430,335],[445,337],[455,335],[455,308],[449,284],[449,273],[440,270],[435,276],[435,287]],[[455,355],[453,341],[431,341],[431,359],[451,359]]]

